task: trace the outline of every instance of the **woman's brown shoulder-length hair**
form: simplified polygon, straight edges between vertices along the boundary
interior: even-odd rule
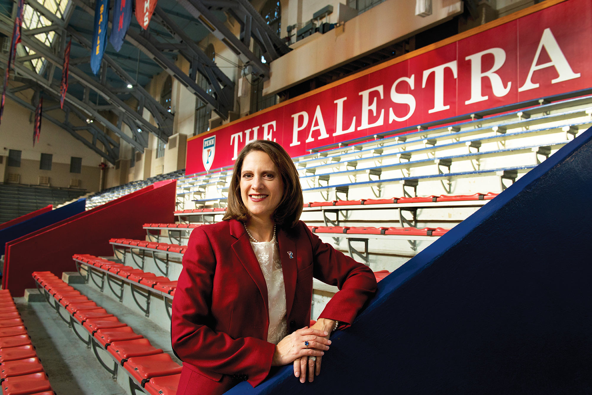
[[[240,173],[243,168],[244,157],[252,151],[262,151],[269,155],[269,158],[278,168],[284,182],[284,195],[275,209],[273,219],[281,228],[290,229],[296,226],[302,213],[304,198],[302,196],[302,186],[300,177],[294,166],[292,158],[288,155],[284,147],[269,140],[255,140],[244,146],[239,156],[234,162],[232,178],[228,190],[228,206],[223,221],[226,219],[238,219],[245,221],[249,219],[249,212],[244,206],[243,198],[240,194]]]

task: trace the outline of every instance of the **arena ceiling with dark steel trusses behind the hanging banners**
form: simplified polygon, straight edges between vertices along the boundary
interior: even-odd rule
[[[25,0],[22,43],[17,47],[14,76],[11,74],[11,80],[22,85],[7,89],[7,95],[28,109],[34,109],[39,97],[56,102],[63,53],[67,41],[72,38],[65,114],[57,116],[52,113],[59,109],[59,105],[54,105],[44,106],[43,116],[65,128],[111,163],[119,157],[119,143],[99,125],[139,152],[147,147],[147,133],[156,135],[165,143],[172,134],[174,114],[143,88],[163,70],[221,118],[227,118],[233,108],[234,83],[205,54],[205,48],[200,47],[200,41],[208,34],[213,34],[233,51],[244,67],[251,66],[253,74],[264,79],[269,77],[269,61],[289,51],[247,0],[159,0],[148,29],[143,30],[132,17],[121,50],[115,51],[108,43],[101,70],[94,75],[90,66],[90,48],[95,4],[91,1]],[[113,5],[114,1],[111,1],[111,7]],[[0,54],[3,64],[8,59],[15,8],[15,2],[0,0],[0,33],[8,37]],[[112,12],[110,14],[112,18]],[[225,24],[229,18],[240,24],[238,37]],[[265,61],[250,51],[251,39],[262,48]],[[176,66],[178,56],[188,60],[189,73]],[[205,86],[197,82],[198,74]],[[34,90],[32,103],[15,95],[24,89]],[[153,116],[156,125],[143,118],[144,108]],[[72,117],[81,119],[84,125],[72,122]],[[124,124],[131,133],[124,132]],[[92,140],[79,134],[81,130],[88,131]],[[97,145],[98,142],[102,147]]]

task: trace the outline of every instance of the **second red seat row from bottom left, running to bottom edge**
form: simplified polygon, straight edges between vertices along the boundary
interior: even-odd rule
[[[59,303],[64,307],[147,393],[176,393],[181,366],[169,354],[153,347],[144,336],[136,334],[126,323],[120,322],[50,271],[34,271],[33,278],[53,296],[56,306],[59,307]]]

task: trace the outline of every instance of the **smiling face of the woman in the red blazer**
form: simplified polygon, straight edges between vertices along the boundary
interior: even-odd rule
[[[268,154],[251,151],[244,157],[240,195],[251,216],[266,220],[274,214],[284,195],[284,183]]]

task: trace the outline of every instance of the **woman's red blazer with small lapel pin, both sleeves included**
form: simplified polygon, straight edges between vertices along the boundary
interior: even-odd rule
[[[277,237],[288,332],[309,325],[313,277],[340,289],[320,317],[353,322],[377,288],[372,271],[321,242],[302,221]],[[178,394],[204,393],[215,387],[212,380],[224,387],[215,393],[236,379],[255,387],[269,373],[275,345],[265,341],[267,286],[249,236],[242,222],[231,219],[195,228],[188,246],[172,307],[172,347],[184,361]]]

